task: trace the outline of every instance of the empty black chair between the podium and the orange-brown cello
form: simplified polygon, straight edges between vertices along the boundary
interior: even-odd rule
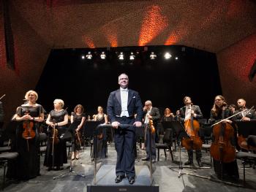
[[[163,143],[156,143],[156,148],[157,148],[157,161],[159,161],[159,151],[160,149],[163,149],[165,152],[165,159],[167,158],[166,156],[166,150],[170,150],[170,155],[172,157],[172,161],[173,161],[173,151],[171,149],[172,143],[173,143],[173,139],[172,139],[172,129],[171,128],[167,128],[165,129],[165,134],[164,137],[162,138]]]

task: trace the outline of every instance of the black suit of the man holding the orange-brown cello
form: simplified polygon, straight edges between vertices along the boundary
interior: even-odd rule
[[[203,118],[203,114],[200,110],[200,107],[198,105],[192,105],[192,110],[194,111],[194,113],[196,114],[195,116],[195,120],[197,119],[200,119],[200,118]],[[181,122],[184,123],[184,120],[185,120],[185,112],[186,112],[186,106],[184,107],[181,107],[180,109],[180,112],[181,112]],[[188,137],[187,134],[184,134],[183,136],[181,137]],[[192,155],[193,155],[193,150],[187,150],[187,153],[189,155],[189,161],[192,161]],[[196,155],[196,159],[197,161],[200,161],[201,158],[202,158],[202,153],[201,153],[201,150],[195,150],[195,155]]]

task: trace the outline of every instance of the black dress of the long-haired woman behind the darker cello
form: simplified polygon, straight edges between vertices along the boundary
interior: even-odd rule
[[[217,123],[219,120],[222,120],[223,118],[228,118],[231,115],[232,113],[229,109],[225,109],[224,115],[223,115],[224,117],[222,117],[222,111],[220,111],[219,114],[217,114],[217,116],[214,115],[213,112],[211,112],[210,123]],[[213,142],[214,142],[214,138],[213,138]],[[236,146],[234,137],[230,139],[230,142],[233,146]],[[214,172],[217,174],[218,177],[222,177],[224,179],[237,180],[239,178],[238,165],[237,165],[236,159],[230,163],[223,163],[223,162],[221,163],[220,161],[214,160]]]

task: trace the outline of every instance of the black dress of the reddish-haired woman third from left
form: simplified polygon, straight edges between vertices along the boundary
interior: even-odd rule
[[[73,120],[74,121],[69,126],[69,131],[71,132],[71,135],[72,135],[72,140],[71,140],[71,142],[72,142],[72,152],[75,152],[76,150],[80,150],[80,147],[81,147],[80,142],[81,142],[81,145],[83,145],[82,144],[83,140],[82,140],[81,137],[80,137],[80,142],[76,139],[78,137],[75,136],[75,134],[76,134],[75,129],[78,128],[78,126],[80,125],[80,123],[82,121],[82,118],[86,117],[86,114],[82,113],[80,115],[77,115],[75,112],[72,112],[71,115],[73,115],[73,117],[74,117]],[[83,127],[80,128],[79,132],[80,132],[80,136],[81,136],[82,133],[83,133]]]

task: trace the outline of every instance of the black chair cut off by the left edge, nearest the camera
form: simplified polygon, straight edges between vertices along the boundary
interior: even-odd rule
[[[17,152],[10,152],[11,147],[0,147],[0,166],[4,166],[4,175],[3,175],[3,183],[2,190],[4,190],[5,186],[5,176],[6,176],[6,168],[8,161],[13,161],[18,157]]]

